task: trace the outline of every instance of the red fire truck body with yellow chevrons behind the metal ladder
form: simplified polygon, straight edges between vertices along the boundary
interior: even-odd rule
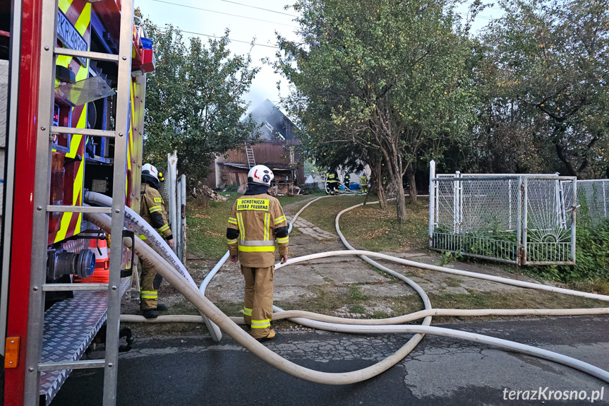
[[[37,193],[35,191],[36,167],[40,163],[41,156],[40,131],[44,130],[44,126],[49,123],[49,118],[42,117],[39,112],[40,95],[44,94],[41,93],[39,85],[41,55],[44,57],[44,52],[53,51],[42,45],[44,43],[41,28],[43,20],[55,18],[56,47],[58,49],[84,52],[83,54],[77,52],[76,56],[62,55],[59,52],[55,57],[55,96],[52,100],[52,112],[49,112],[52,115],[51,126],[74,130],[70,133],[52,133],[51,135],[49,202],[47,203],[58,206],[81,206],[85,189],[109,195],[113,190],[115,138],[80,134],[78,129],[81,129],[82,132],[87,130],[100,130],[100,133],[113,131],[114,121],[116,121],[113,114],[116,114],[117,104],[119,104],[116,101],[117,96],[114,89],[117,87],[117,78],[120,76],[121,69],[121,62],[118,58],[121,11],[124,9],[125,1],[133,0],[123,0],[123,4],[120,0],[59,0],[56,1],[55,16],[49,16],[44,11],[45,1],[48,0],[13,0],[13,20],[10,30],[11,51],[8,66],[11,76],[9,76],[8,95],[6,95],[9,111],[9,131],[6,136],[8,169],[6,173],[14,172],[14,177],[5,181],[6,187],[12,188],[12,191],[9,191],[11,193],[6,195],[7,201],[12,199],[12,203],[9,202],[5,205],[2,281],[6,286],[6,293],[4,298],[0,297],[6,304],[4,310],[0,308],[0,323],[6,323],[6,333],[0,339],[5,345],[2,355],[4,355],[5,361],[4,405],[7,406],[30,404],[27,400],[26,381],[28,381],[28,374],[32,374],[32,371],[28,370],[26,348],[28,345],[32,346],[32,342],[28,342],[28,333],[31,338],[31,329],[40,327],[36,326],[36,321],[33,321],[30,316],[32,314],[32,281],[30,280],[32,247],[40,242],[39,239],[46,239],[45,244],[47,244],[49,252],[69,252],[82,247],[86,248],[89,246],[89,239],[86,239],[84,235],[80,239],[80,233],[92,228],[84,219],[83,213],[78,213],[76,210],[52,211],[44,208],[49,212],[48,232],[46,235],[32,233],[32,229],[35,228],[36,211],[44,210],[40,205],[35,206],[34,196]],[[128,10],[133,13],[132,4],[128,5]],[[122,200],[125,205],[138,210],[145,73],[154,70],[155,60],[150,42],[145,38],[143,27],[135,25],[133,22],[131,25],[133,26],[132,52],[131,61],[128,64],[131,71],[131,88],[129,89],[130,103],[127,113],[128,126],[124,133],[126,136],[126,165],[124,167],[125,193]],[[116,61],[96,61],[88,54],[91,52],[116,55]],[[122,66],[124,68],[125,65]],[[14,86],[15,84],[18,85],[17,88]],[[16,113],[12,117],[10,115],[11,106]],[[11,128],[14,131],[11,132]],[[116,129],[116,133],[119,133],[119,129]],[[120,135],[123,136],[123,133]],[[116,196],[114,199],[116,200]],[[7,240],[6,236],[10,238]],[[51,260],[49,259],[49,261]],[[68,282],[71,280],[70,277]],[[64,278],[59,282],[65,281]],[[56,281],[49,280],[47,277],[47,285],[54,282]],[[38,287],[33,287],[33,289],[36,290]],[[47,292],[47,301],[48,299],[49,292]],[[50,310],[54,309],[53,306],[56,305],[47,302],[44,307],[45,309],[49,307]],[[56,309],[58,308],[55,308],[57,312]],[[2,314],[3,312],[4,314]],[[44,316],[45,326],[47,313]],[[70,326],[63,327],[70,328]],[[3,329],[0,329],[0,333],[2,332]],[[93,336],[95,333],[92,331]],[[46,344],[41,341],[35,345],[44,347]],[[88,345],[88,342],[83,342],[83,345]],[[42,352],[44,354],[44,348],[42,348]],[[36,360],[36,363],[38,362],[41,361]],[[40,371],[33,372],[44,375],[44,371],[44,369],[40,369]],[[69,374],[69,370],[62,371],[62,373],[64,376],[55,381],[54,385],[61,386]],[[48,391],[43,389],[40,388],[39,401],[41,404],[44,402],[48,404],[56,390],[59,390],[59,388],[54,388],[52,395],[49,395]]]

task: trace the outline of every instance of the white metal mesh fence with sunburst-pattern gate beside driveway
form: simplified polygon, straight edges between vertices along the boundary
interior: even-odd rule
[[[459,172],[436,176],[432,162],[430,249],[522,265],[573,264],[573,191],[574,177]]]

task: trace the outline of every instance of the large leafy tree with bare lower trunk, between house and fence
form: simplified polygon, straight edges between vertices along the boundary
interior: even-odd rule
[[[376,151],[406,217],[404,174],[474,117],[469,40],[443,0],[299,0],[301,42],[275,65],[294,85],[288,110],[319,143]],[[321,134],[321,135],[313,135]],[[416,201],[412,188],[411,200]]]

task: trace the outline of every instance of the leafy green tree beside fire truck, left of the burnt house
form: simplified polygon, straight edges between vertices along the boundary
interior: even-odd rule
[[[203,179],[213,157],[243,145],[256,129],[241,121],[243,100],[259,68],[249,55],[232,55],[229,31],[207,44],[191,38],[186,46],[179,29],[150,28],[156,70],[147,77],[144,159],[165,166],[177,150],[179,172],[188,184]]]

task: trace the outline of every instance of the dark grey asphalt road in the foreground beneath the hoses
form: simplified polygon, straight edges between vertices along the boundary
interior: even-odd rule
[[[542,347],[609,370],[609,316],[432,325]],[[344,372],[380,361],[409,337],[288,331],[266,345],[308,368]],[[101,405],[102,378],[102,370],[73,371],[52,405]],[[509,400],[511,390],[521,390],[518,396],[529,400],[516,400],[517,392]],[[533,390],[536,400],[530,399]],[[576,390],[577,396],[586,399],[554,400],[553,394],[548,399],[550,390]],[[589,405],[588,397],[598,398],[601,393],[603,399],[594,404],[609,405],[609,383],[574,369],[430,335],[380,376],[352,385],[325,386],[278,371],[225,335],[219,343],[208,336],[136,340],[131,352],[121,354],[117,404]]]

